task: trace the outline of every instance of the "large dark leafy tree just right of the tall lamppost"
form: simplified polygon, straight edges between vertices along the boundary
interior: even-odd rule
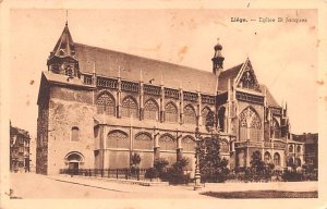
[[[220,144],[217,137],[206,138],[204,146],[197,147],[199,153],[199,171],[206,176],[214,179],[215,182],[225,182],[229,174],[228,160],[221,158],[219,149]]]

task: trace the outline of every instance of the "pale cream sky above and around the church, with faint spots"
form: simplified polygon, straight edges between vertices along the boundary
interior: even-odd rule
[[[275,22],[263,23],[259,17]],[[306,22],[278,23],[278,17]],[[315,10],[69,10],[66,19],[65,10],[13,9],[10,119],[32,136],[36,136],[40,75],[66,20],[75,42],[209,72],[219,38],[225,69],[249,57],[258,82],[280,104],[288,103],[292,133],[318,131]]]

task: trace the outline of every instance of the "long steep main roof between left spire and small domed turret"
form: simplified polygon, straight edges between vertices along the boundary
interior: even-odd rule
[[[95,72],[110,77],[120,74],[122,79],[143,79],[145,84],[152,79],[154,85],[162,81],[170,88],[216,94],[217,77],[211,72],[76,42],[74,46],[82,73]]]

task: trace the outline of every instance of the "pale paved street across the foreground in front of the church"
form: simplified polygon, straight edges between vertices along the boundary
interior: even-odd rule
[[[235,190],[317,190],[317,182],[288,183],[226,183],[206,184],[198,192],[192,186],[141,186],[129,183],[117,183],[106,179],[89,179],[69,175],[46,176],[35,173],[12,173],[11,188],[13,196],[26,198],[207,198],[202,192]]]

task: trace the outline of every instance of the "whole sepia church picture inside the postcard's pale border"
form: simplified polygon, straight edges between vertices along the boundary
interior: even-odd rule
[[[8,14],[10,206],[320,200],[317,9]]]

